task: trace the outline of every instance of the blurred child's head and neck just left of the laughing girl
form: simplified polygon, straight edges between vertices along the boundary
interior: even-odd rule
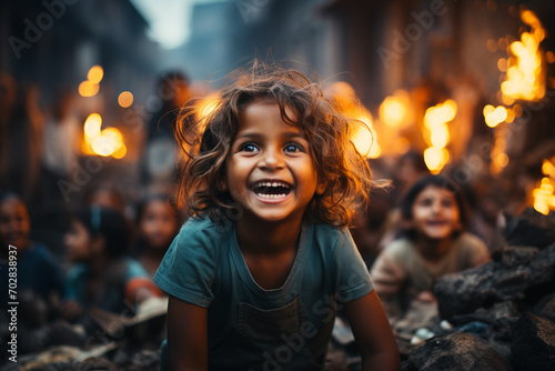
[[[138,243],[134,251],[147,272],[154,277],[162,259],[179,232],[175,210],[168,198],[155,194],[147,198],[137,214]]]

